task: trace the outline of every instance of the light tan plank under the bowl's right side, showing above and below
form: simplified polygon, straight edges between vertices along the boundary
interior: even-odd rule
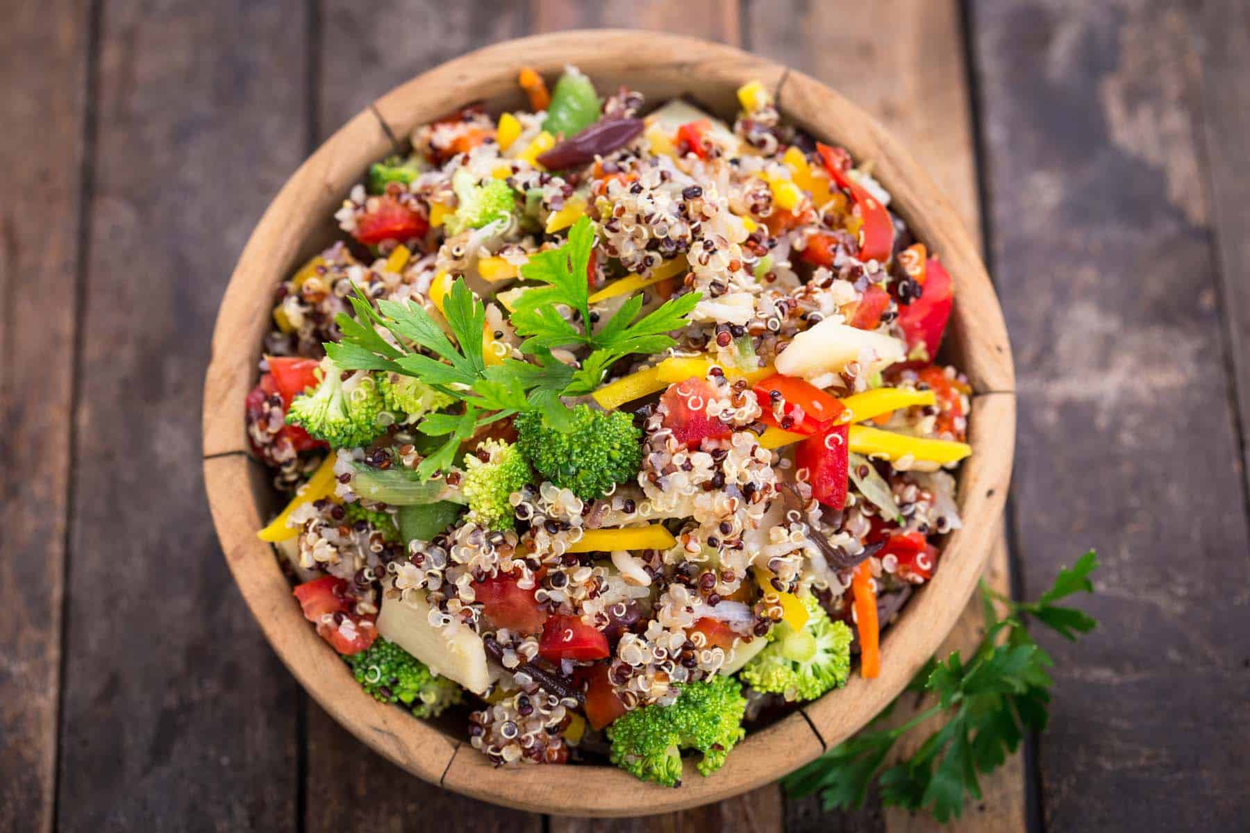
[[[882,21],[889,21],[882,25]],[[752,4],[746,20],[752,49],[786,61],[836,87],[881,120],[942,189],[965,227],[980,240],[981,217],[976,186],[976,152],[971,125],[966,54],[960,5],[954,0],[889,0],[840,6],[836,14],[816,4]],[[1006,547],[990,555],[986,579],[1010,592]],[[982,627],[978,601],[969,604],[940,656],[966,651],[980,639]],[[900,708],[905,721],[910,709]],[[912,736],[921,738],[924,728]],[[900,746],[906,749],[908,744]],[[970,812],[961,829],[1022,831],[1024,767],[1021,756],[982,779],[986,806],[994,813]],[[990,799],[992,796],[992,801]],[[896,809],[870,807],[836,814],[846,829],[919,831],[932,822]],[[819,801],[788,802],[788,829],[815,829],[831,814],[821,814]]]

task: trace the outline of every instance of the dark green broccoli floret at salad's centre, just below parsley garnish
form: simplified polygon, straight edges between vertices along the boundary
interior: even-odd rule
[[[642,432],[625,411],[572,410],[568,431],[546,423],[541,412],[516,415],[518,447],[545,478],[584,501],[602,497],[638,476]]]

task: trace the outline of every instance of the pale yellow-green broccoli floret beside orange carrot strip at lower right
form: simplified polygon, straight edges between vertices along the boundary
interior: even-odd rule
[[[788,701],[816,699],[846,682],[851,669],[851,629],[832,622],[812,596],[802,599],[808,623],[795,632],[779,624],[769,633],[769,646],[751,658],[739,676],[759,692],[782,694]]]

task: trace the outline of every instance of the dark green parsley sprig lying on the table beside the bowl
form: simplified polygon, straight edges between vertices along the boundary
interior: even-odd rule
[[[1091,550],[1071,569],[1060,569],[1054,586],[1036,602],[1012,602],[982,583],[985,637],[971,659],[965,663],[959,651],[945,662],[930,659],[908,686],[908,691],[935,696],[938,702],[901,726],[869,729],[840,743],[788,776],[782,781],[786,791],[791,796],[819,793],[825,809],[848,809],[864,803],[875,779],[882,804],[929,808],[942,823],[958,818],[969,796],[981,797],[978,773],[1001,766],[1026,731],[1046,728],[1052,686],[1046,669],[1054,662],[1029,636],[1025,618],[1031,616],[1069,639],[1094,629],[1092,617],[1054,602],[1080,591],[1092,592],[1089,576],[1095,567],[1098,557]],[[1006,607],[1006,616],[999,617],[995,603]],[[892,709],[894,704],[874,723],[880,724]],[[895,742],[936,714],[944,714],[946,723],[910,758],[886,767]]]

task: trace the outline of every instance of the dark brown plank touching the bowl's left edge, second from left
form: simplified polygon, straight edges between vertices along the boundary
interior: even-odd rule
[[[198,437],[221,288],[302,156],[305,10],[102,9],[61,829],[295,828],[296,687],[212,538]]]

